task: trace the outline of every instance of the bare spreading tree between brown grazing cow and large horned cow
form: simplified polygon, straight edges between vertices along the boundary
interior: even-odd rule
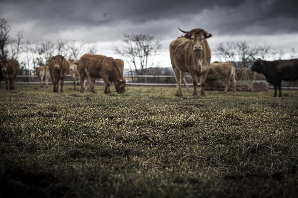
[[[147,68],[153,66],[153,59],[162,48],[161,40],[149,34],[124,34],[124,43],[121,47],[114,47],[114,51],[125,57],[131,70],[133,65],[138,75],[146,74]]]

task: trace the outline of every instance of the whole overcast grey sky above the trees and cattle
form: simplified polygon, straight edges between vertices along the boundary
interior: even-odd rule
[[[12,36],[24,30],[26,40],[92,40],[97,54],[115,58],[113,48],[124,33],[153,34],[163,44],[160,66],[170,67],[169,44],[182,35],[177,27],[210,32],[211,50],[218,43],[239,40],[285,53],[298,50],[297,8],[297,0],[0,0],[0,17],[7,18]]]

